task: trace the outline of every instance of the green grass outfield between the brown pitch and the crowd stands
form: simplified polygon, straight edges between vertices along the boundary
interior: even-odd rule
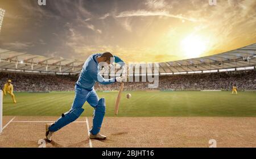
[[[201,91],[133,91],[131,99],[123,92],[118,116],[256,116],[256,93]],[[18,103],[10,95],[4,97],[3,115],[60,116],[73,102],[74,92],[16,93]],[[106,98],[106,116],[114,116],[117,92],[98,92]],[[92,116],[93,109],[84,105],[82,115]]]

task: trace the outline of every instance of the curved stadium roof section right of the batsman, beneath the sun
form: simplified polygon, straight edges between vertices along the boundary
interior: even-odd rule
[[[241,68],[256,65],[256,43],[212,56],[162,62],[160,73],[197,72]]]

